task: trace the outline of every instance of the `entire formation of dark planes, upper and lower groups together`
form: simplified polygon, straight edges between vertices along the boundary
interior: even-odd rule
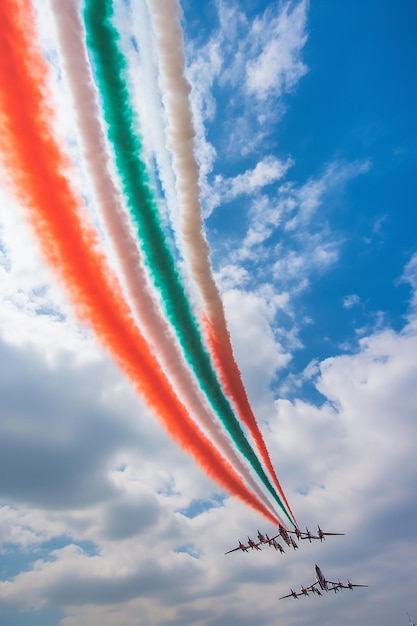
[[[279,543],[278,539],[281,539],[287,546],[292,547],[294,550],[298,549],[298,544],[293,538],[292,535],[295,535],[298,541],[302,541],[307,539],[310,543],[318,539],[319,541],[323,541],[328,535],[344,535],[344,533],[333,533],[333,532],[325,532],[320,526],[317,526],[317,533],[312,534],[308,528],[306,528],[305,532],[301,531],[299,528],[295,530],[287,530],[281,524],[278,527],[278,533],[273,537],[269,537],[266,533],[263,534],[258,530],[258,540],[254,541],[250,537],[248,537],[247,543],[242,543],[239,541],[236,548],[232,548],[225,552],[225,554],[230,554],[231,552],[237,552],[241,550],[242,552],[249,552],[249,550],[261,550],[261,546],[269,546],[275,548],[280,553],[285,552],[281,543]],[[328,580],[325,578],[323,572],[320,567],[316,564],[316,580],[307,586],[301,586],[301,591],[296,592],[291,589],[290,593],[285,596],[281,596],[280,600],[284,598],[295,598],[298,599],[300,596],[309,596],[310,594],[321,596],[323,592],[334,591],[337,593],[341,589],[350,589],[352,590],[354,587],[367,587],[368,585],[362,585],[357,583],[351,583],[348,580],[346,583],[342,583],[340,580]],[[414,626],[414,625],[413,625]]]

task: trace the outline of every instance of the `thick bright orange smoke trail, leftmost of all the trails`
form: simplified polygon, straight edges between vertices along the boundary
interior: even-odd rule
[[[82,220],[81,201],[65,176],[69,159],[54,138],[47,105],[48,67],[36,42],[28,0],[0,3],[1,158],[29,213],[42,250],[77,314],[94,329],[170,435],[223,489],[277,523],[193,423],[136,328],[121,288]]]

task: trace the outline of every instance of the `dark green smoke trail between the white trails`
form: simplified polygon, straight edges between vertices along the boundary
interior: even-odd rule
[[[292,522],[223,394],[211,366],[210,357],[203,346],[201,334],[186,299],[172,255],[167,248],[148,185],[146,167],[138,156],[142,152],[142,146],[138,136],[133,132],[135,117],[124,80],[126,68],[124,58],[118,48],[118,34],[111,23],[112,15],[111,0],[100,3],[87,0],[85,3],[84,20],[87,43],[94,57],[96,78],[102,96],[104,117],[107,121],[107,132],[115,147],[116,165],[146,263],[162,295],[166,315],[176,330],[185,357],[206,397],[240,452],[249,461],[266,489]]]

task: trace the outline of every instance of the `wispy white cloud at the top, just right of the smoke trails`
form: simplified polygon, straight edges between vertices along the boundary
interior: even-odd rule
[[[267,138],[285,110],[282,95],[305,73],[300,59],[306,41],[307,4],[303,0],[269,7],[251,22],[237,3],[219,2],[220,30],[200,50],[189,45],[188,56],[193,60],[187,77],[193,86],[196,153],[208,215],[221,202],[222,193],[208,180],[217,158],[217,149],[208,136],[217,135],[217,145],[223,146],[233,161],[242,155],[257,155],[262,143],[273,145]],[[221,94],[217,97],[216,93],[216,100],[215,90]],[[259,99],[266,96],[271,96],[271,106],[261,109]],[[276,164],[272,172],[269,167],[267,160],[261,160],[259,166],[255,163],[254,174],[248,171],[236,179],[236,192],[240,193],[241,183],[247,193],[247,185],[251,190],[253,185],[258,188],[276,180]],[[231,181],[228,183],[230,186]]]

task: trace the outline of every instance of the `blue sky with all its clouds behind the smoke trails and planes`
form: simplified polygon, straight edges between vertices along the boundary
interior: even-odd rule
[[[57,3],[34,6],[71,176],[96,219]],[[152,115],[146,6],[120,3],[116,19],[167,238],[198,303]],[[4,175],[0,624],[416,621],[417,5],[181,8],[204,234],[236,362],[300,528],[345,534],[224,555],[276,526],[167,434],[76,316]],[[315,563],[369,587],[279,600],[314,581]]]

